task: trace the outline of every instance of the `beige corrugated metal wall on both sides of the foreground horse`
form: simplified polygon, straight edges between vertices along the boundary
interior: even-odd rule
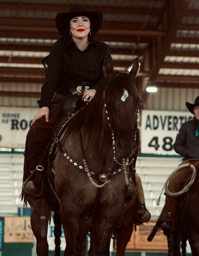
[[[42,84],[0,82],[0,91],[40,92]],[[159,88],[156,93],[149,93],[144,109],[186,111],[185,102],[193,103],[199,95],[199,89]],[[37,98],[0,96],[0,106],[37,107]]]

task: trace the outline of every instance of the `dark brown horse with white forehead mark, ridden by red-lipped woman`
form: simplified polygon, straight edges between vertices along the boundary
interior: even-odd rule
[[[87,228],[82,228],[82,219],[87,216],[92,218],[89,254],[109,255],[111,235],[124,210],[127,193],[124,174],[114,173],[117,173],[118,163],[120,167],[125,165],[126,158],[131,158],[136,151],[140,97],[134,79],[138,69],[138,59],[134,60],[130,73],[111,73],[106,62],[106,84],[101,86],[87,108],[74,116],[62,139],[67,153],[59,151],[55,157],[54,184],[61,201],[65,256],[82,254],[82,241],[88,232]],[[76,165],[81,163],[81,168],[84,166],[91,177],[67,161],[67,154]],[[127,173],[129,175],[129,168]],[[102,188],[98,189],[96,183]]]

